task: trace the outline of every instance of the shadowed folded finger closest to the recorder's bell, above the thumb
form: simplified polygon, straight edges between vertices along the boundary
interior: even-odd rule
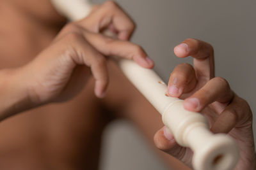
[[[245,122],[252,122],[252,111],[250,111],[250,106],[244,99],[235,95],[232,102],[216,119],[211,131],[214,133],[228,133],[236,125],[241,127],[246,125]]]

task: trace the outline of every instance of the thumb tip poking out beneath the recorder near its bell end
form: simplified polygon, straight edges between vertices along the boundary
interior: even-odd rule
[[[170,132],[166,126],[156,132],[154,136],[154,143],[159,150],[162,150],[163,152],[166,152],[188,164],[189,160],[187,160],[188,152],[186,151],[186,148],[179,146],[176,143],[172,132]]]

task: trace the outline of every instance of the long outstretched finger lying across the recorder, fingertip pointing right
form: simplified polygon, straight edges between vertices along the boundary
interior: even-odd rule
[[[129,41],[112,39],[102,34],[84,31],[84,36],[100,53],[106,56],[118,56],[125,59],[132,59],[140,66],[152,68],[154,62],[141,46],[135,45]]]

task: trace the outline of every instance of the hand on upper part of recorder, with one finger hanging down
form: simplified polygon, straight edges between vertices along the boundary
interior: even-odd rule
[[[47,49],[16,71],[27,83],[33,103],[66,101],[74,97],[86,85],[90,71],[95,78],[96,96],[104,97],[108,85],[108,56],[133,59],[147,68],[154,66],[140,46],[97,33],[109,24],[121,39],[128,39],[134,29],[132,20],[116,4],[105,3],[90,16],[65,26]],[[90,29],[96,26],[97,30]]]

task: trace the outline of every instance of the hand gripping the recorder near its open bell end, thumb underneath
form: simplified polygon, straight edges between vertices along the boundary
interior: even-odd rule
[[[208,119],[211,131],[227,133],[239,145],[236,170],[255,169],[255,146],[250,106],[230,89],[227,80],[214,77],[214,52],[211,45],[186,39],[174,48],[180,58],[192,56],[194,67],[179,64],[168,83],[168,94],[184,99],[184,108],[200,112]],[[179,146],[172,132],[163,127],[154,136],[156,146],[191,167],[193,152]]]

